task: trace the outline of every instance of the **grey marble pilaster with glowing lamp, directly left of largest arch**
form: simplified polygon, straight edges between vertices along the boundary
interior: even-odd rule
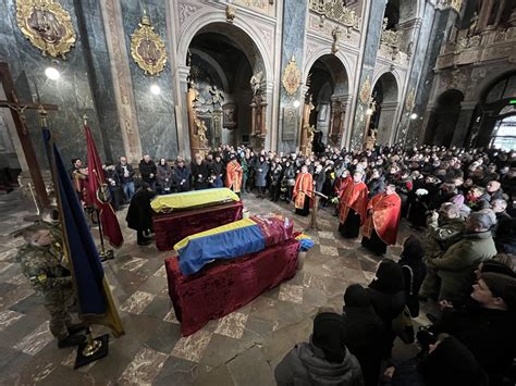
[[[146,0],[145,9],[155,32],[168,47],[165,2],[165,0]],[[131,34],[138,27],[144,13],[144,3],[139,0],[125,0],[121,4],[127,52],[131,52]],[[157,76],[145,75],[133,59],[128,59],[142,151],[144,154],[150,154],[153,159],[172,159],[177,155],[177,130],[170,65],[171,52],[167,52],[167,54],[169,57],[167,66]],[[150,86],[153,84],[161,89],[161,94],[158,96],[150,92]]]

